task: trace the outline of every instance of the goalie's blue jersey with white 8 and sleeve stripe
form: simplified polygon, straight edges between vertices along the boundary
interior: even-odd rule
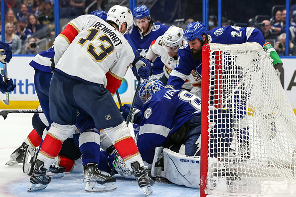
[[[152,162],[154,148],[166,146],[168,137],[201,112],[200,98],[185,90],[162,89],[143,105],[137,145],[144,161]]]

